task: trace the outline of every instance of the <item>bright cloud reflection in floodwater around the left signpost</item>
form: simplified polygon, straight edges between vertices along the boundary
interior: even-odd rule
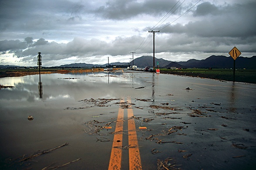
[[[101,98],[102,96],[115,97],[119,96],[120,93],[124,93],[124,90],[118,87],[120,85],[127,85],[129,79],[125,78],[127,76],[122,74],[110,74],[108,76],[106,73],[41,75],[42,98],[40,98],[38,89],[39,75],[3,78],[1,82],[15,85],[15,88],[1,91],[0,99],[34,102],[67,98],[74,98],[78,101],[84,98]]]

